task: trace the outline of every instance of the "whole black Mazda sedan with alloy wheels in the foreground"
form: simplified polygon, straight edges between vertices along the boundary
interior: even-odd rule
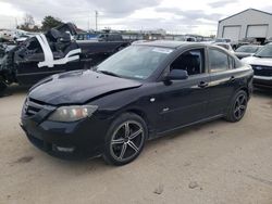
[[[238,122],[254,72],[226,50],[202,43],[133,44],[97,67],[35,85],[21,126],[40,150],[63,158],[135,160],[147,140],[224,117]]]

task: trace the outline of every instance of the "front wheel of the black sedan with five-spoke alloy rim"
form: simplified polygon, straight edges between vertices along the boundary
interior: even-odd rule
[[[103,158],[111,165],[125,165],[143,151],[148,129],[145,120],[133,113],[125,113],[111,125],[106,137]]]

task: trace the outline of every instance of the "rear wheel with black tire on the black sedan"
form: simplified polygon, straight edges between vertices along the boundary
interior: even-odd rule
[[[238,91],[231,101],[225,119],[232,123],[239,122],[246,113],[247,102],[248,95],[246,91]]]

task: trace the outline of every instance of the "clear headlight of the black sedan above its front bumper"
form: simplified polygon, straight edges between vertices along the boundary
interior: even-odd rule
[[[90,117],[97,109],[97,105],[61,106],[48,119],[52,122],[76,122],[85,117]]]

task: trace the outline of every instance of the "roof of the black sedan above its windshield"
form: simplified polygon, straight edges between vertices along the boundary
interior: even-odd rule
[[[186,47],[189,44],[194,46],[207,46],[207,43],[201,42],[188,42],[188,41],[174,41],[174,40],[156,40],[156,41],[146,41],[136,43],[137,46],[152,46],[152,47],[161,47],[161,48],[172,48],[177,49],[181,47]]]

